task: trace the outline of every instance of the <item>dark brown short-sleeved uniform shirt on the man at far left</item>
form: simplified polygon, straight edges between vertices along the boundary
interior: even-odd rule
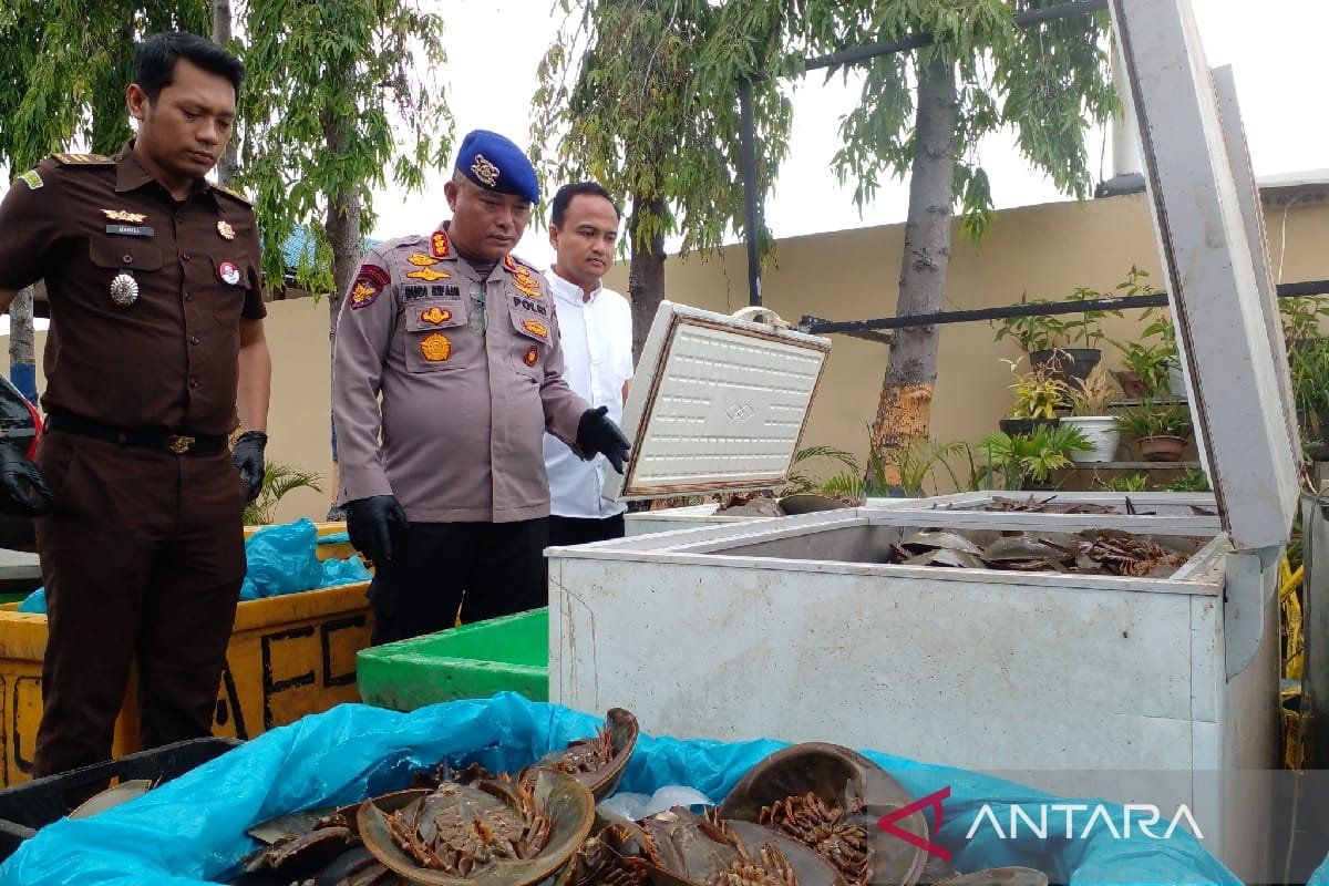
[[[47,282],[47,412],[226,434],[239,319],[267,313],[254,213],[202,179],[178,203],[132,146],[56,154],[15,179],[0,203],[0,288]],[[110,298],[121,272],[138,284],[126,307]]]

